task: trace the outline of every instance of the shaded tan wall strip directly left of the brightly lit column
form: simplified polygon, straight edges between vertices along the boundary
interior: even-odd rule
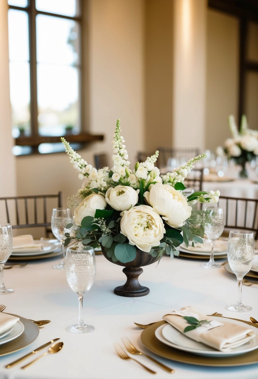
[[[154,153],[172,143],[173,3],[146,0],[145,5],[144,148]]]

